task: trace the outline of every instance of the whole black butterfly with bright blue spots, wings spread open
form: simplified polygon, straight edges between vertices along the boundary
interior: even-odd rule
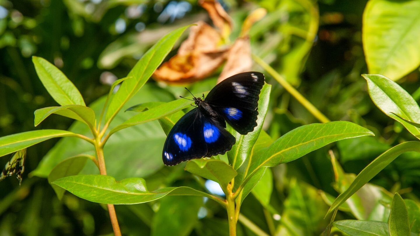
[[[257,126],[258,100],[264,85],[260,72],[244,72],[217,84],[207,97],[194,97],[192,109],[173,126],[163,146],[165,165],[224,154],[235,144],[226,122],[239,134]],[[188,90],[188,89],[187,89]]]

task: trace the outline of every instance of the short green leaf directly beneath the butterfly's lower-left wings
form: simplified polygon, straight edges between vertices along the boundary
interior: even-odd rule
[[[218,182],[223,191],[229,182],[237,175],[236,171],[222,160],[194,159],[186,163],[185,170]]]

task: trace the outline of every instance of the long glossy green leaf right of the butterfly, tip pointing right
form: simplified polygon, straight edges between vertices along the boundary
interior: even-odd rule
[[[252,161],[249,175],[263,166],[273,167],[296,160],[329,143],[365,135],[373,133],[348,121],[314,123],[295,128],[271,144],[260,158]]]

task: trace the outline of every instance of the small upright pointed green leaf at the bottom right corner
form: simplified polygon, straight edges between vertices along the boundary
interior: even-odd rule
[[[409,236],[410,222],[408,219],[407,207],[402,197],[396,193],[391,204],[391,213],[389,214],[389,234],[391,236]]]

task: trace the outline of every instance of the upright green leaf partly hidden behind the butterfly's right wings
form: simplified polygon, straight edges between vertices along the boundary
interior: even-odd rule
[[[236,131],[234,132],[236,143],[232,149],[228,151],[228,159],[235,170],[244,163],[245,159],[251,153],[251,149],[257,141],[258,135],[260,135],[265,115],[267,115],[270,91],[271,85],[264,84],[261,89],[260,100],[258,100],[257,126],[254,128],[254,131],[249,132],[247,135],[241,135]]]

